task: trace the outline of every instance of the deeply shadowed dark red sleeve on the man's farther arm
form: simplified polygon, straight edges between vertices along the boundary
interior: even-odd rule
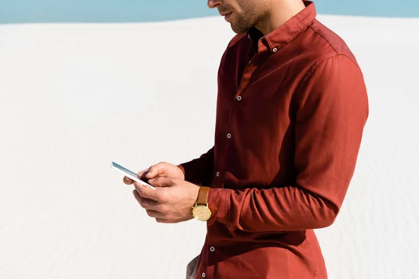
[[[199,158],[178,165],[184,172],[185,180],[191,183],[210,186],[214,172],[214,146]]]

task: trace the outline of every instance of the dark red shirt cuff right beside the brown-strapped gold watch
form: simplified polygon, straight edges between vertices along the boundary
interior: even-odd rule
[[[228,209],[233,190],[223,188],[210,188],[208,191],[208,207],[211,210],[211,218],[207,221],[212,225],[215,221],[228,224]]]

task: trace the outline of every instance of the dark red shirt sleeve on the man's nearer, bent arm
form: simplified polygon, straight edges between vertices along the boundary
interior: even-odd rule
[[[335,221],[369,114],[362,72],[348,56],[332,56],[311,68],[295,98],[295,184],[212,188],[208,198],[213,215],[208,222],[272,232],[317,229]]]

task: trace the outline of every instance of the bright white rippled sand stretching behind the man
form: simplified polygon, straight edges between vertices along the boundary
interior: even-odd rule
[[[330,278],[419,278],[419,20],[318,18],[370,101],[344,206],[317,232]],[[140,170],[212,146],[231,36],[221,17],[0,26],[1,278],[184,278],[205,225],[155,223],[110,161]]]

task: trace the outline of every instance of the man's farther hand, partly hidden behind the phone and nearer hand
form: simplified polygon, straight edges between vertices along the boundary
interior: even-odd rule
[[[170,163],[161,162],[156,165],[152,165],[148,169],[144,169],[141,172],[138,172],[139,176],[145,177],[146,179],[155,179],[157,177],[167,177],[168,179],[185,179],[182,169],[176,165]],[[124,176],[124,183],[131,185],[133,180]]]

